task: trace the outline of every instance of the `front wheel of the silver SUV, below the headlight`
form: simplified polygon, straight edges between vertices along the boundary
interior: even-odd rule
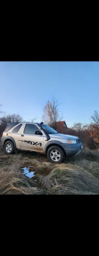
[[[64,162],[65,154],[58,146],[52,146],[47,151],[47,158],[53,164],[60,164]]]

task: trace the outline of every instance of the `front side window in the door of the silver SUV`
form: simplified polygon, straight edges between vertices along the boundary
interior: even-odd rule
[[[38,131],[42,135],[40,129],[36,125],[27,124],[25,125],[24,133],[25,134],[35,134]]]

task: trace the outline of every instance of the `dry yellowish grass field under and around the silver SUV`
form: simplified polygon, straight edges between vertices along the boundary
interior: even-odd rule
[[[17,151],[6,155],[0,143],[0,194],[99,194],[99,150],[87,148],[63,164],[51,164],[46,155]],[[21,168],[30,167],[31,179]]]

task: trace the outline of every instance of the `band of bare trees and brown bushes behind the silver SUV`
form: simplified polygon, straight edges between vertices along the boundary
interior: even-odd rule
[[[58,99],[53,96],[51,101],[47,101],[43,108],[43,122],[50,125],[56,131],[62,133],[62,128],[59,126],[59,121],[64,117],[63,114],[60,116]],[[0,104],[0,140],[3,131],[10,122],[22,122],[23,117],[19,114],[6,114],[1,110],[2,105]],[[38,117],[30,119],[31,122],[36,122]],[[42,120],[41,120],[42,121]],[[56,124],[57,122],[57,124]],[[86,131],[88,137],[88,143],[86,143]],[[99,113],[97,110],[91,116],[91,124],[75,123],[70,129],[64,127],[64,134],[74,135],[81,139],[83,146],[88,146],[89,149],[99,149]]]

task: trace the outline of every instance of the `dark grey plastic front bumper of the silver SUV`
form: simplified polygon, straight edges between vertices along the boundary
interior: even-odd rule
[[[82,142],[79,144],[60,144],[65,150],[66,156],[76,156],[81,152]]]

